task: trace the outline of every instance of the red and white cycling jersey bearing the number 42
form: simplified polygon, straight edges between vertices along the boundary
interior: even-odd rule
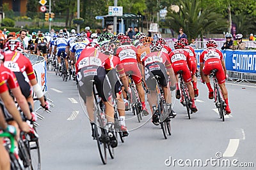
[[[20,52],[4,52],[4,66],[13,72],[23,73],[26,71],[29,80],[36,78],[30,60]]]

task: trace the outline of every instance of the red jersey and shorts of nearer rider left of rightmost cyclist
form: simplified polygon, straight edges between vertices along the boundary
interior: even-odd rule
[[[189,52],[184,49],[173,50],[170,55],[173,71],[176,74],[179,70],[182,70],[182,76],[187,83],[191,81],[191,62],[189,62]]]

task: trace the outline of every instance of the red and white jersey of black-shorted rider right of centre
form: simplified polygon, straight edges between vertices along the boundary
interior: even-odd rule
[[[172,64],[170,62],[168,54],[162,51],[148,53],[148,55],[144,57],[142,62],[144,66],[147,66],[148,64],[152,64],[155,62],[161,62],[165,65],[166,69],[172,68]]]

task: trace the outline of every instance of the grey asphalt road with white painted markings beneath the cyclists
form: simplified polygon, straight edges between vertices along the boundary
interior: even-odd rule
[[[115,159],[103,165],[97,143],[91,137],[86,111],[75,81],[62,81],[47,73],[47,97],[55,105],[51,113],[39,110],[38,134],[42,169],[255,169],[255,95],[253,83],[227,81],[232,114],[222,122],[206,85],[198,81],[198,112],[188,119],[186,109],[173,98],[177,117],[172,120],[172,136],[163,138],[150,116],[138,123],[131,111],[126,124],[129,136],[118,143]],[[173,93],[174,94],[174,93]],[[175,101],[175,102],[174,102]],[[252,165],[252,164],[253,165]],[[229,166],[230,164],[230,166]]]

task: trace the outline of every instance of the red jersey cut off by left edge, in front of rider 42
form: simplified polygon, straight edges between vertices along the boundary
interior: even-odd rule
[[[8,90],[6,83],[8,83],[10,89],[19,87],[15,74],[10,69],[4,67],[4,64],[0,64],[0,93]]]

